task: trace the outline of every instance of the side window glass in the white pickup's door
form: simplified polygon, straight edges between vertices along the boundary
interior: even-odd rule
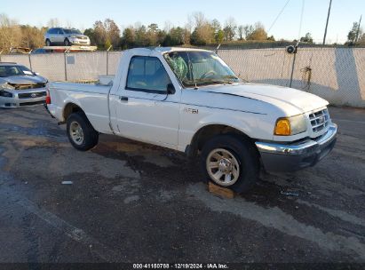
[[[127,89],[165,93],[171,83],[163,64],[158,58],[135,56],[131,58],[128,69]]]

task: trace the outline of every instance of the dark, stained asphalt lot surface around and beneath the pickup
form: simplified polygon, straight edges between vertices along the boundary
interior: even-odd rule
[[[365,110],[329,112],[331,155],[223,199],[179,153],[0,110],[0,262],[365,262]]]

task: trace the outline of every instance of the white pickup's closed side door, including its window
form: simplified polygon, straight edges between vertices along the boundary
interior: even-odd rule
[[[133,56],[126,83],[115,97],[117,132],[123,137],[176,148],[181,92],[168,95],[169,84],[171,87],[170,76],[158,58]]]

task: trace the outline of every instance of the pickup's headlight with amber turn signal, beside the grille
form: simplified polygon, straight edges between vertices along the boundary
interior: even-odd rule
[[[290,136],[306,131],[305,115],[279,118],[276,121],[274,135]]]

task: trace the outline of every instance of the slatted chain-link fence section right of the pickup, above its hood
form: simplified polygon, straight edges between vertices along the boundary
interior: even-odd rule
[[[294,54],[284,48],[218,54],[243,79],[290,86]],[[365,107],[365,48],[299,48],[291,87],[334,105]]]

